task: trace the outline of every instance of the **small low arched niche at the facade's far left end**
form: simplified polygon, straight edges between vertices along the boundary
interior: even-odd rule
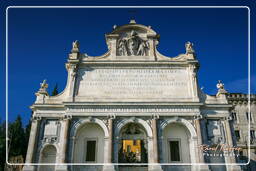
[[[56,162],[56,148],[53,145],[47,145],[41,152],[40,163],[55,163]],[[54,165],[41,165],[40,171],[54,171]]]

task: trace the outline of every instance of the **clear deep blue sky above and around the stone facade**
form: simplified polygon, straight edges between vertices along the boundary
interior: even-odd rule
[[[9,119],[12,121],[17,114],[20,114],[25,123],[28,121],[31,113],[29,106],[35,101],[34,93],[39,89],[43,79],[47,79],[49,83],[49,93],[56,83],[59,85],[59,91],[64,89],[67,78],[65,62],[72,41],[80,41],[82,53],[92,56],[105,53],[107,46],[104,34],[111,32],[115,24],[127,24],[131,18],[129,10],[127,8],[9,9]],[[4,15],[1,17],[3,18]],[[197,59],[200,62],[199,86],[204,87],[206,93],[216,93],[218,80],[223,80],[229,92],[248,92],[248,10],[246,8],[138,8],[135,19],[139,24],[150,25],[160,34],[158,50],[166,56],[174,57],[184,53],[186,41],[194,43]],[[4,27],[1,27],[1,33],[4,35]],[[252,37],[253,35],[252,29]],[[4,40],[1,43],[4,45]],[[255,61],[254,56],[252,47],[252,64]],[[5,59],[1,62],[3,62],[1,71],[4,71]],[[5,73],[1,73],[1,76],[5,82]],[[253,65],[251,81],[251,91],[256,93],[256,74]],[[1,94],[4,94],[5,85],[1,84],[0,88],[3,92]],[[2,100],[4,101],[4,97],[1,97]],[[1,113],[5,113],[4,104],[1,104]],[[3,119],[4,116],[1,118]]]

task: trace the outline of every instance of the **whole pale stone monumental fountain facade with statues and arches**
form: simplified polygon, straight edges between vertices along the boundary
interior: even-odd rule
[[[232,105],[223,83],[214,96],[199,88],[193,43],[166,57],[157,51],[159,35],[134,20],[114,27],[106,43],[108,51],[92,57],[73,42],[62,93],[49,96],[41,83],[24,171],[241,169],[228,165],[238,162],[236,152],[202,148],[233,147]],[[127,158],[126,140],[139,140],[138,160]]]

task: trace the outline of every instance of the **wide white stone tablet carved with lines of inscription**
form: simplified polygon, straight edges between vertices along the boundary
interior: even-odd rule
[[[185,68],[81,69],[77,96],[110,99],[189,98]]]

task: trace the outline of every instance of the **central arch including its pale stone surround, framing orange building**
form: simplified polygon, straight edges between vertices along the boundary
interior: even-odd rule
[[[153,141],[152,129],[149,124],[140,118],[129,118],[121,120],[115,129],[114,162],[116,163],[152,163]],[[136,144],[132,144],[132,143]],[[133,149],[127,149],[131,146]],[[133,155],[130,161],[122,160],[122,152],[128,157]],[[129,156],[130,155],[130,156]],[[127,157],[127,156],[126,156]],[[124,159],[124,158],[123,158]]]

